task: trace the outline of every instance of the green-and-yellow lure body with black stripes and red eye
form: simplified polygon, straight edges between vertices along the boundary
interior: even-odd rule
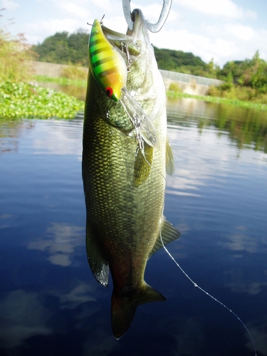
[[[99,20],[93,22],[89,39],[89,65],[95,81],[109,98],[118,101],[126,86],[127,66],[120,53],[105,38]]]

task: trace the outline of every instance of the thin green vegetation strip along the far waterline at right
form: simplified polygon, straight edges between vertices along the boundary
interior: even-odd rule
[[[187,93],[168,91],[167,96],[169,98],[193,98],[193,99],[204,100],[208,103],[225,103],[230,105],[241,106],[242,108],[267,110],[266,104],[251,103],[251,101],[244,101],[244,100],[237,100],[237,99],[218,98],[210,95],[192,95]]]

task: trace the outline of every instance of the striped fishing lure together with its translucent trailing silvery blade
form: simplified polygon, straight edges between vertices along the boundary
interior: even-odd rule
[[[108,28],[105,29],[108,30]],[[108,30],[108,32],[109,36],[115,36],[114,31]],[[113,41],[115,41],[114,38]],[[125,46],[127,64],[120,52],[106,38],[103,32],[103,22],[96,19],[93,22],[89,39],[90,70],[95,81],[108,97],[115,102],[120,101],[135,130],[138,125],[142,140],[145,140],[151,147],[157,147],[158,135],[152,124],[152,119],[145,113],[140,104],[137,103],[137,100],[132,98],[132,95],[126,88],[127,72],[130,70],[132,62],[127,49],[129,41],[126,45],[123,42],[121,43]],[[142,141],[139,139],[138,142],[140,149],[142,149]]]

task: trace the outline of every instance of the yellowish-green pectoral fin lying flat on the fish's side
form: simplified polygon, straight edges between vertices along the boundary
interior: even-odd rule
[[[144,150],[140,150],[139,146],[137,146],[134,168],[135,187],[139,187],[144,183],[150,174],[153,161],[153,150],[154,148],[147,145],[147,142],[144,142]]]

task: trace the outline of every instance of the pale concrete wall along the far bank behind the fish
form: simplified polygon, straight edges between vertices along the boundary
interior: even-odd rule
[[[45,63],[38,61],[30,61],[30,65],[33,69],[33,73],[38,75],[47,75],[48,77],[59,77],[61,76],[61,70],[68,67],[64,64]],[[82,68],[85,73],[88,73],[88,68],[80,68]],[[170,83],[176,83],[179,85],[179,88],[181,88],[183,93],[193,95],[206,95],[208,93],[209,86],[218,86],[224,83],[222,80],[171,72],[169,70],[160,69],[159,72],[162,74],[166,90],[169,90]]]

